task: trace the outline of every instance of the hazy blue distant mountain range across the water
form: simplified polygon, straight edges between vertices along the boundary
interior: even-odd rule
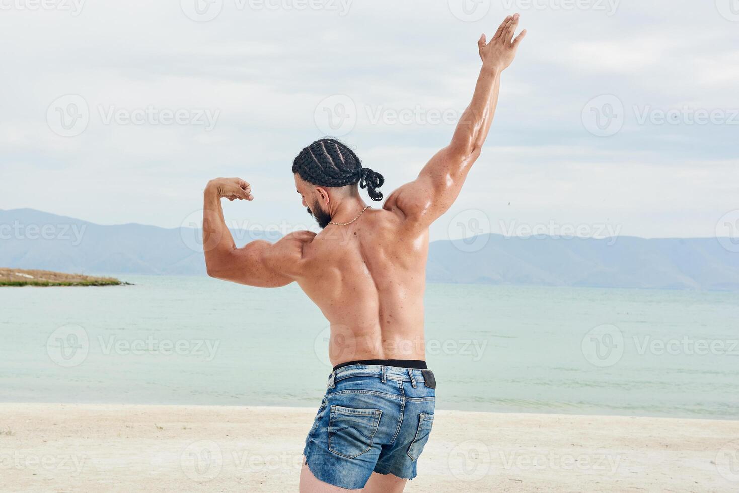
[[[0,266],[96,274],[205,275],[200,230],[101,226],[33,209],[0,210]],[[237,244],[266,237],[234,231]],[[474,251],[470,251],[474,250]],[[486,235],[434,241],[429,281],[739,290],[739,252],[716,238],[603,240]]]

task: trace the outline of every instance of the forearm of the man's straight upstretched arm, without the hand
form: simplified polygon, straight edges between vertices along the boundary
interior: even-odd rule
[[[480,153],[490,131],[500,91],[501,70],[483,64],[471,103],[454,129],[450,151],[466,161]]]

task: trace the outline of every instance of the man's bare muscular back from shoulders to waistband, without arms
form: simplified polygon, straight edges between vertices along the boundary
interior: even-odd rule
[[[298,283],[331,325],[334,365],[424,358],[429,235],[403,226],[389,210],[368,209],[353,224],[330,224],[304,245]]]

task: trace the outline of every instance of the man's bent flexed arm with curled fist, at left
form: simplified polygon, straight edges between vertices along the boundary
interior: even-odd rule
[[[299,278],[304,266],[303,247],[315,234],[293,232],[275,244],[260,240],[236,248],[223,219],[222,198],[253,200],[251,185],[239,178],[217,178],[205,187],[202,247],[208,275],[265,288],[285,286]]]

